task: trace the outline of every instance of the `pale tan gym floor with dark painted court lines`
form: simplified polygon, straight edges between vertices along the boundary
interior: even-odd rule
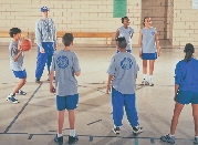
[[[60,44],[60,48],[62,45]],[[174,112],[174,75],[176,63],[184,58],[183,49],[161,45],[161,56],[155,62],[154,86],[139,85],[143,80],[138,49],[133,53],[139,65],[136,91],[136,107],[144,132],[134,136],[124,115],[121,135],[112,132],[111,95],[105,94],[106,70],[115,48],[74,45],[82,69],[79,81],[80,102],[76,110],[76,145],[166,145],[159,141],[169,133]],[[25,52],[24,68],[28,73],[23,86],[27,95],[17,95],[19,104],[7,102],[7,95],[18,83],[9,66],[8,44],[0,45],[0,145],[55,145],[55,97],[49,91],[46,70],[41,84],[34,83],[37,46]],[[197,50],[196,50],[197,51]],[[195,56],[198,56],[196,52]],[[191,105],[186,105],[179,117],[175,145],[192,145],[195,130]],[[64,145],[69,135],[67,112],[64,123]]]

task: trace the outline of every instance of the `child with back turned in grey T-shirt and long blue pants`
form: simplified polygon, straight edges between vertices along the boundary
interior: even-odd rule
[[[124,115],[123,107],[125,106],[127,120],[131,123],[133,133],[139,134],[143,132],[143,127],[138,125],[138,116],[135,106],[135,82],[138,65],[136,64],[135,58],[126,52],[126,45],[125,38],[117,39],[119,53],[112,58],[112,62],[107,70],[108,81],[106,93],[110,93],[112,83],[113,132],[119,134]]]

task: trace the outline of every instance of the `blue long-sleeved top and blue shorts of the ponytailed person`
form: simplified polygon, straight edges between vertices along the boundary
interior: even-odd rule
[[[179,85],[176,101],[180,104],[198,104],[198,60],[181,60],[175,69],[175,84]]]

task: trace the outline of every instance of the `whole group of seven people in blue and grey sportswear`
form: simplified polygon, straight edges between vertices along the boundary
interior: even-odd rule
[[[75,113],[74,110],[79,103],[77,81],[75,76],[81,74],[80,63],[76,53],[71,51],[73,45],[73,34],[65,33],[62,38],[64,48],[59,51],[54,51],[53,46],[56,45],[55,28],[53,24],[49,25],[46,7],[41,8],[41,12],[44,15],[43,20],[37,23],[37,39],[38,41],[38,65],[37,65],[37,82],[40,82],[40,77],[44,68],[43,63],[48,63],[49,79],[50,79],[50,92],[56,94],[56,108],[58,108],[58,134],[54,141],[59,144],[63,144],[62,128],[64,124],[64,112],[69,112],[70,135],[69,144],[74,144],[79,141],[75,133]],[[46,23],[45,27],[42,27]],[[124,106],[127,115],[127,120],[132,126],[134,134],[143,132],[143,127],[139,126],[138,115],[135,105],[135,91],[136,91],[136,77],[139,71],[135,58],[132,53],[132,37],[134,30],[129,27],[129,19],[127,17],[122,18],[123,27],[116,31],[117,53],[112,58],[111,64],[107,69],[108,81],[106,85],[106,93],[112,92],[112,106],[113,106],[113,132],[119,134],[122,120],[124,115]],[[51,29],[51,30],[50,30]],[[48,31],[46,31],[48,30]],[[45,35],[39,32],[45,31]],[[15,77],[20,81],[14,87],[12,93],[7,97],[12,103],[19,103],[15,99],[15,94],[25,94],[21,91],[21,87],[25,83],[27,73],[23,68],[23,50],[20,48],[21,30],[18,28],[10,29],[10,37],[13,38],[10,43],[10,66]],[[44,38],[42,38],[44,37]],[[142,84],[154,86],[153,71],[154,62],[157,55],[160,55],[160,46],[155,28],[150,27],[150,18],[144,19],[144,28],[139,31],[139,56],[143,59],[143,74],[144,80]],[[157,52],[156,52],[157,46]],[[52,50],[53,49],[53,50]],[[175,71],[175,97],[176,101],[174,116],[171,121],[170,133],[161,136],[160,139],[168,143],[175,143],[175,130],[178,123],[179,114],[185,104],[192,104],[192,114],[195,120],[195,144],[198,144],[198,61],[192,58],[195,52],[192,44],[185,46],[186,56],[183,61],[179,61]],[[46,53],[46,54],[44,54]],[[53,56],[52,56],[53,55]],[[39,59],[40,58],[40,59]],[[46,61],[48,60],[48,61]],[[147,60],[149,60],[149,77],[147,79]],[[50,70],[51,65],[51,70]],[[53,84],[55,72],[55,86]]]

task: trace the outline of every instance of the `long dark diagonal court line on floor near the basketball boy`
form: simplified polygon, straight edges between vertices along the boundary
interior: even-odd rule
[[[41,87],[43,83],[41,83],[38,89],[33,92],[33,94],[30,96],[30,99],[27,101],[27,103],[23,105],[23,107],[21,108],[21,111],[17,114],[17,116],[13,118],[13,121],[8,125],[8,127],[4,130],[4,133],[8,133],[8,131],[12,127],[12,125],[14,124],[14,122],[18,120],[18,117],[21,115],[21,113],[24,111],[24,108],[28,106],[28,104],[30,103],[30,101],[33,99],[34,94],[39,91],[39,89]]]

